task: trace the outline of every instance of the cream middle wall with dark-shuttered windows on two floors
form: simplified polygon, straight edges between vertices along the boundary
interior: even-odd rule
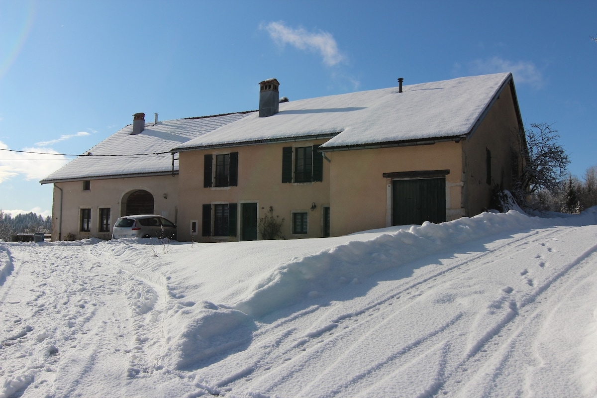
[[[323,181],[314,183],[282,183],[282,147],[306,147],[325,140],[264,144],[180,153],[179,175],[179,240],[219,242],[238,240],[241,234],[241,206],[238,206],[236,237],[201,236],[202,205],[208,203],[256,202],[257,217],[263,217],[270,206],[273,214],[284,218],[282,235],[287,239],[323,236],[322,207],[330,203],[330,168],[324,160]],[[204,155],[238,152],[238,186],[203,187]],[[316,204],[311,211],[312,203]],[[293,235],[292,213],[307,212],[308,233]],[[191,237],[190,223],[197,221],[198,233]],[[261,239],[260,236],[257,239]]]

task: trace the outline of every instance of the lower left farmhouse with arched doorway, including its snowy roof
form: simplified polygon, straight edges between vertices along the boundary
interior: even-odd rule
[[[178,169],[170,149],[247,112],[146,123],[144,113],[40,182],[54,184],[52,240],[109,239],[121,215],[177,219]]]

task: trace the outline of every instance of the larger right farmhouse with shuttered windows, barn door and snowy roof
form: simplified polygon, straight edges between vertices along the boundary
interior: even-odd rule
[[[440,223],[488,208],[517,172],[510,73],[298,101],[278,88],[261,82],[259,113],[173,149],[181,239],[259,239],[269,209],[287,238]]]

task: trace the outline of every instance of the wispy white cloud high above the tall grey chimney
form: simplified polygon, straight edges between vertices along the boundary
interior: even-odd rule
[[[338,50],[336,40],[331,33],[324,31],[307,32],[302,27],[293,29],[285,26],[282,22],[270,22],[260,27],[266,29],[270,37],[282,47],[290,44],[299,50],[315,51],[321,54],[327,66],[334,66],[345,59],[344,55]]]

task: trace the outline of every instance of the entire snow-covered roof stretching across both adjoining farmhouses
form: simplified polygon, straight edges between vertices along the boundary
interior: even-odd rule
[[[172,152],[327,138],[321,150],[392,146],[472,134],[510,73],[283,102],[279,112],[229,113],[128,125],[40,182],[167,174]],[[516,111],[518,112],[518,106]],[[101,155],[101,156],[100,156]],[[174,171],[178,171],[178,161]]]

